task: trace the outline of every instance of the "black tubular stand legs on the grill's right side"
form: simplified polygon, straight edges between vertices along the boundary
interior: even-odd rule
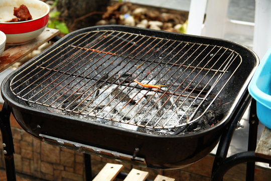
[[[249,103],[251,97],[248,95],[245,97],[244,102]],[[248,104],[246,104],[247,106]],[[223,179],[223,175],[233,166],[247,162],[246,165],[246,181],[254,180],[254,168],[255,162],[264,162],[271,164],[271,160],[261,158],[255,155],[256,143],[257,143],[257,128],[259,120],[256,116],[256,101],[252,99],[250,113],[249,113],[249,133],[248,133],[248,147],[247,151],[236,153],[228,158],[227,152],[230,145],[230,141],[234,130],[238,124],[238,117],[243,115],[246,107],[244,104],[240,106],[239,111],[233,116],[234,121],[231,125],[228,125],[227,131],[222,134],[218,149],[215,155],[213,163],[211,180],[220,181]],[[242,114],[241,114],[242,113]],[[241,114],[241,115],[240,115]]]

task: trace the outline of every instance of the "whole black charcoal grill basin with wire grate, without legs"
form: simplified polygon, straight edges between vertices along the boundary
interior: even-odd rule
[[[225,40],[96,26],[57,41],[6,77],[1,91],[18,123],[42,141],[180,168],[217,144],[257,64],[252,51]]]

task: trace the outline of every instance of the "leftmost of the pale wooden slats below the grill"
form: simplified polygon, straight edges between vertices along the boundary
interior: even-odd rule
[[[93,181],[113,180],[123,167],[122,164],[106,163]]]

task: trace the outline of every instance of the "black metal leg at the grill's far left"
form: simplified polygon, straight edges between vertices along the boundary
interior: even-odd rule
[[[6,164],[7,180],[16,180],[15,164],[14,164],[14,144],[12,138],[11,124],[10,124],[10,107],[4,103],[0,115],[0,129],[3,139],[3,149]]]

